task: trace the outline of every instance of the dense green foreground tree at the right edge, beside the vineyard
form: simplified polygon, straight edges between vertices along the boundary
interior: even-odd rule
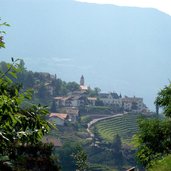
[[[171,83],[162,89],[155,104],[163,108],[166,118],[141,119],[137,138],[137,159],[145,167],[171,153]]]

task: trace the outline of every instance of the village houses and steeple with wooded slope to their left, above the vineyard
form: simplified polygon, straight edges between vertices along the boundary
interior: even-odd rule
[[[66,121],[76,123],[80,115],[96,114],[100,117],[124,112],[149,112],[143,98],[122,97],[116,92],[101,93],[99,88],[93,90],[85,84],[83,75],[79,84],[67,83],[57,78],[56,74],[27,71],[23,60],[19,66],[22,72],[18,74],[18,82],[22,82],[24,89],[34,90],[33,102],[49,106],[48,118],[56,125],[64,125]],[[1,62],[0,68],[5,72],[7,63]]]

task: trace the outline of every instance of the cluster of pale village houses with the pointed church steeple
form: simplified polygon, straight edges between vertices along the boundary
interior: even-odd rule
[[[67,96],[54,97],[58,108],[63,108],[65,113],[52,113],[50,120],[57,125],[64,125],[65,120],[75,123],[79,117],[79,108],[85,106],[112,106],[125,112],[148,112],[148,108],[139,97],[122,97],[117,93],[99,93],[96,97],[90,97],[87,86],[84,85],[84,77],[80,79],[80,90],[69,93]],[[99,103],[100,102],[100,103]]]

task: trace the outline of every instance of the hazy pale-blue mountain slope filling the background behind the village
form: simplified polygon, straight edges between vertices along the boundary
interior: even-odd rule
[[[1,0],[6,49],[28,70],[49,72],[102,92],[143,97],[154,110],[171,76],[171,16],[152,8],[74,0]]]

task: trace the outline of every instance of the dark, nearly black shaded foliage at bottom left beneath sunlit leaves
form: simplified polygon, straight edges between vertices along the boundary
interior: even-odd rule
[[[54,170],[58,171],[59,161],[52,155],[53,145],[36,143],[34,145],[17,146],[14,170]]]

